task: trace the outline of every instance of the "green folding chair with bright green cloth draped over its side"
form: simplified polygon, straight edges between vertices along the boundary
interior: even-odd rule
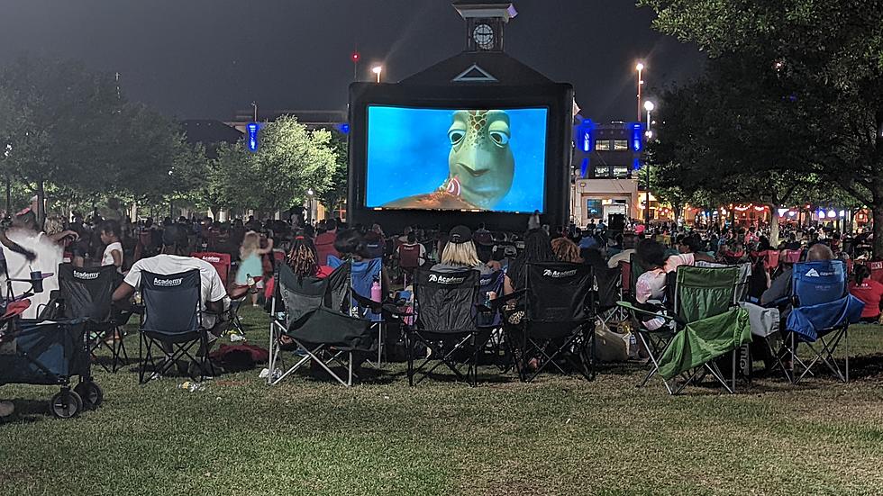
[[[671,310],[651,311],[631,302],[619,303],[638,320],[635,329],[650,355],[651,370],[638,387],[660,374],[669,394],[677,394],[711,373],[727,392],[735,390],[736,350],[751,341],[748,312],[734,306],[740,270],[736,266],[679,266],[674,273],[675,287],[668,288],[673,294]],[[650,330],[641,324],[641,320],[658,317],[665,320],[660,329]],[[730,352],[732,388],[715,364],[716,358]],[[678,375],[684,382],[672,387],[669,380]]]

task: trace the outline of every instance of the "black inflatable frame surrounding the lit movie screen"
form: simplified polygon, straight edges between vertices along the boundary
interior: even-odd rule
[[[569,84],[418,86],[353,83],[350,85],[350,185],[347,198],[350,223],[378,222],[386,230],[397,230],[414,224],[449,229],[460,223],[477,225],[480,222],[493,229],[523,230],[528,217],[533,212],[367,207],[368,108],[371,105],[441,110],[546,109],[542,220],[551,225],[567,225],[570,157],[573,149],[571,143],[573,88]]]

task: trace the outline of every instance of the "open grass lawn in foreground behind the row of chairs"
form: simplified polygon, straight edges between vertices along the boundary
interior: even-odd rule
[[[244,313],[265,346],[266,318]],[[487,367],[476,389],[409,388],[401,364],[349,389],[255,370],[196,392],[96,367],[105,403],[77,419],[50,416],[56,388],[0,388],[18,410],[0,424],[0,494],[880,494],[883,328],[850,337],[852,383],[736,395],[636,389],[638,365],[531,384]]]

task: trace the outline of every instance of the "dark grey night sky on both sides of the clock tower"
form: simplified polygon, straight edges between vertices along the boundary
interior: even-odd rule
[[[635,113],[634,62],[651,87],[697,74],[703,54],[651,30],[631,0],[515,0],[506,51],[570,82],[583,114]],[[120,72],[129,97],[178,118],[262,109],[344,110],[381,63],[399,80],[464,47],[448,0],[0,0],[0,65],[24,53]]]

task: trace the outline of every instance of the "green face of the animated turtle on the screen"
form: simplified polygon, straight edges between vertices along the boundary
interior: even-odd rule
[[[460,183],[463,200],[492,209],[509,193],[515,170],[510,136],[509,116],[503,111],[454,113],[448,130],[448,174]]]

